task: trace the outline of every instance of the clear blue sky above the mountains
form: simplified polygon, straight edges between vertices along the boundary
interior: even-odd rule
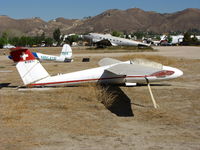
[[[45,21],[58,17],[82,19],[108,9],[129,8],[172,13],[186,8],[200,9],[200,0],[0,0],[0,15],[15,19],[40,17]]]

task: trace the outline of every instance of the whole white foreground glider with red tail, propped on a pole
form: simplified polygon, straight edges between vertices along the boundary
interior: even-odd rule
[[[136,86],[137,83],[147,83],[155,108],[158,106],[149,83],[174,79],[183,75],[179,69],[147,60],[136,59],[122,62],[104,58],[99,61],[101,67],[50,76],[30,50],[13,48],[10,55],[16,63],[16,68],[25,86],[69,86],[86,82]]]

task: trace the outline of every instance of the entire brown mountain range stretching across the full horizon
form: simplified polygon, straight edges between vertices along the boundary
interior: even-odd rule
[[[10,31],[13,34],[52,35],[56,28],[62,33],[88,32],[135,32],[153,31],[165,33],[171,31],[200,30],[200,9],[189,8],[175,13],[160,14],[153,11],[144,11],[138,8],[127,10],[107,10],[97,16],[87,19],[57,18],[45,22],[40,18],[12,19],[0,16],[0,33]]]

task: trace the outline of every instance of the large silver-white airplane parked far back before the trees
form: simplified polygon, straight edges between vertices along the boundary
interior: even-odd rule
[[[88,35],[84,35],[83,38],[95,44],[106,44],[106,46],[150,46],[150,44],[115,37],[110,34],[89,33]],[[106,43],[106,41],[109,43]]]

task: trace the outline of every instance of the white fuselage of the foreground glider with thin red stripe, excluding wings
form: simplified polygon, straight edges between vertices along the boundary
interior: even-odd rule
[[[33,86],[58,86],[58,85],[74,85],[81,84],[86,82],[98,82],[101,84],[121,84],[124,85],[126,83],[146,83],[146,79],[149,82],[156,82],[162,80],[169,80],[173,78],[177,78],[181,76],[183,73],[179,69],[163,66],[163,70],[173,71],[174,74],[170,76],[153,76],[153,75],[116,75],[106,71],[107,69],[119,65],[119,64],[130,64],[130,61],[67,73],[60,74],[56,76],[50,76],[45,79],[42,79],[34,84]]]

